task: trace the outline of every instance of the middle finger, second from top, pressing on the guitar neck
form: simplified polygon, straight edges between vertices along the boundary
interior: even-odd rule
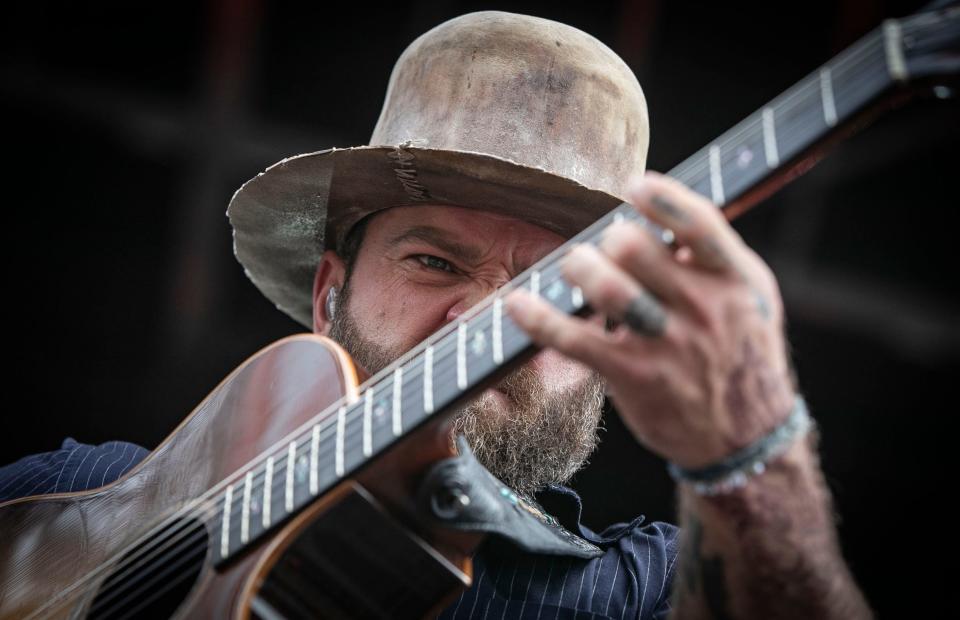
[[[686,305],[682,284],[690,271],[650,232],[633,222],[611,224],[603,233],[600,251],[644,288],[670,305]]]

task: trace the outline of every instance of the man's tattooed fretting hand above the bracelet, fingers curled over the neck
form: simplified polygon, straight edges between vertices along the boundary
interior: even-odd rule
[[[673,231],[670,248],[631,222],[611,225],[599,250],[574,247],[567,281],[597,312],[623,320],[648,293],[666,315],[659,335],[621,323],[607,331],[523,291],[507,297],[533,340],[596,368],[634,436],[684,468],[714,463],[769,433],[793,404],[783,305],[767,265],[720,210],[648,173],[628,190],[645,217]]]

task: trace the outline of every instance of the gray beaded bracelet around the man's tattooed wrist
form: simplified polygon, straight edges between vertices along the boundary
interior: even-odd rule
[[[751,445],[734,452],[719,463],[701,469],[683,469],[667,463],[667,471],[677,482],[692,484],[699,495],[717,495],[747,484],[747,477],[762,474],[767,463],[782,454],[798,437],[806,435],[814,425],[807,403],[797,395],[787,420]]]

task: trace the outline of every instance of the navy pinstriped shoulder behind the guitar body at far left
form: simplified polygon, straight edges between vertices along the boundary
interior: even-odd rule
[[[0,467],[0,502],[101,487],[123,476],[147,454],[146,449],[125,441],[89,445],[66,439],[59,450]]]

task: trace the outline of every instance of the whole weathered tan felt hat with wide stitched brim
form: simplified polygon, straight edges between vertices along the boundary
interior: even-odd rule
[[[310,327],[320,255],[363,217],[456,205],[571,237],[622,202],[648,141],[640,84],[603,43],[546,19],[463,15],[400,56],[370,146],[291,157],[237,190],[234,251]]]

